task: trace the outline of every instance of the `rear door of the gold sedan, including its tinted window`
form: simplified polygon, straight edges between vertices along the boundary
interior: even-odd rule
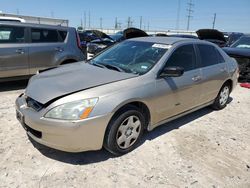
[[[228,77],[227,64],[220,52],[209,44],[197,44],[202,72],[201,102],[214,100]]]

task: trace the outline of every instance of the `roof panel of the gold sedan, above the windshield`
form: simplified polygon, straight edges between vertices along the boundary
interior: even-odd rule
[[[139,37],[129,39],[133,41],[141,41],[141,42],[153,42],[153,43],[161,43],[161,44],[168,44],[173,45],[179,42],[199,42],[199,43],[206,43],[210,44],[207,41],[199,40],[199,39],[192,39],[192,38],[180,38],[180,37]]]

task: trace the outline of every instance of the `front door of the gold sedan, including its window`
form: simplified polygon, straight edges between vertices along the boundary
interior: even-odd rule
[[[201,72],[196,65],[197,57],[192,44],[178,47],[165,66],[184,68],[180,77],[156,80],[157,114],[159,120],[175,116],[199,105]]]

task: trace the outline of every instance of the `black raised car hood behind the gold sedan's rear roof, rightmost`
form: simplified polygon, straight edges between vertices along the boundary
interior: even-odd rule
[[[196,31],[196,34],[201,40],[211,39],[211,40],[220,40],[226,42],[223,33],[216,29],[200,29]]]

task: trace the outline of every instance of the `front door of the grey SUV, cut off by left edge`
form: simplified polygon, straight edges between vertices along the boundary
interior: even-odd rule
[[[29,74],[25,27],[0,25],[0,78]]]

